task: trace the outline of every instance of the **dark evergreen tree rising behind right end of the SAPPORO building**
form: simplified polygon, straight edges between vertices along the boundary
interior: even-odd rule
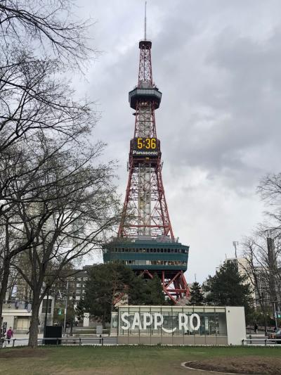
[[[238,272],[237,265],[226,263],[210,277],[204,290],[209,292],[206,302],[211,305],[244,306],[246,317],[252,311],[251,286],[247,276]]]

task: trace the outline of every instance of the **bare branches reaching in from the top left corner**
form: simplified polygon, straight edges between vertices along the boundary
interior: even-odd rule
[[[70,0],[1,0],[0,33],[3,44],[30,44],[53,52],[62,61],[79,64],[89,58],[90,20],[73,21]]]

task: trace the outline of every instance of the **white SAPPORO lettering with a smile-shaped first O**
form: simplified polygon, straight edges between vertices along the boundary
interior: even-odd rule
[[[131,317],[133,316],[133,320]],[[130,317],[130,319],[129,319]],[[131,322],[130,322],[131,321]],[[184,314],[183,312],[178,313],[178,326],[172,329],[164,327],[164,316],[160,312],[139,312],[121,313],[121,329],[125,331],[128,329],[162,329],[166,333],[173,333],[178,328],[180,331],[198,331],[200,328],[200,316],[196,313]]]

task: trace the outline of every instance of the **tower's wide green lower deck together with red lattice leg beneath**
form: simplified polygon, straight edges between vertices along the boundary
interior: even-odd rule
[[[105,248],[103,260],[122,263],[150,279],[157,274],[164,293],[174,303],[188,298],[188,284],[183,274],[188,266],[188,246],[165,237],[140,236],[134,241],[117,239]]]

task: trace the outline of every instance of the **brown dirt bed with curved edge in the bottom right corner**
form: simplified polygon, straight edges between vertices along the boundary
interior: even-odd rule
[[[228,357],[211,360],[190,361],[185,367],[209,371],[230,372],[233,374],[281,375],[281,358]]]

